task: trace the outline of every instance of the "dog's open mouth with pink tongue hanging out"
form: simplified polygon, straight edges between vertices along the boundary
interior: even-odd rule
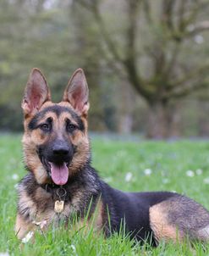
[[[53,163],[47,159],[42,159],[42,163],[47,169],[47,174],[51,176],[56,185],[64,185],[69,180],[69,163]]]

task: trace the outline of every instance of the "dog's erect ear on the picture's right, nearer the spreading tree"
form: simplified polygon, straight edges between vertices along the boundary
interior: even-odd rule
[[[64,91],[63,101],[69,102],[81,115],[87,115],[89,109],[89,88],[85,80],[84,71],[75,70]]]

